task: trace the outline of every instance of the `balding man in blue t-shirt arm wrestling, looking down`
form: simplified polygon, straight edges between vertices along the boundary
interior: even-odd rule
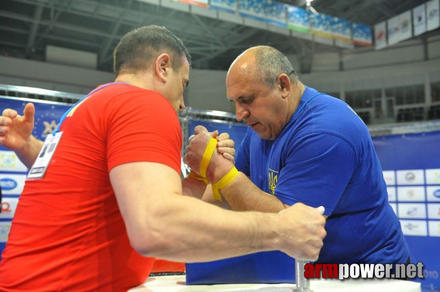
[[[327,237],[318,262],[409,260],[369,131],[346,103],[303,85],[287,57],[267,46],[238,56],[226,87],[237,120],[249,126],[236,154],[240,173],[220,190],[231,209],[322,205]],[[204,128],[196,133],[190,166],[198,136],[207,135]]]

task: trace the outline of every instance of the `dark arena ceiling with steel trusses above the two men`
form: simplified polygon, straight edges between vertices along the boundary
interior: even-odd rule
[[[305,7],[305,0],[281,2]],[[320,13],[374,25],[424,2],[314,0],[312,5]],[[46,46],[53,45],[96,53],[98,70],[111,71],[112,50],[120,37],[147,24],[164,25],[180,37],[197,69],[227,70],[234,57],[252,45],[308,56],[342,50],[141,0],[0,0],[0,54],[45,60]],[[439,29],[429,34],[438,33]]]

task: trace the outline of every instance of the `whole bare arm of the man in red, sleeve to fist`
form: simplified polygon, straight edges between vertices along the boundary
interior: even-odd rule
[[[282,250],[316,260],[325,236],[324,219],[305,205],[278,214],[232,212],[182,196],[180,176],[164,164],[120,164],[110,181],[130,243],[144,256],[189,262]]]

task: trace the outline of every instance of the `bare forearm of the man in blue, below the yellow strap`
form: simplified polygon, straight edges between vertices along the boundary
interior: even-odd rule
[[[220,193],[234,211],[280,212],[287,206],[261,191],[241,172]]]

